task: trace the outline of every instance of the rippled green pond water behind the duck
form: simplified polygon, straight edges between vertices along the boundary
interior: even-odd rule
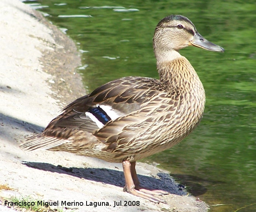
[[[255,0],[26,3],[68,29],[81,50],[80,71],[88,91],[124,76],[157,78],[152,35],[158,21],[170,14],[185,15],[201,35],[224,47],[224,53],[196,47],[180,51],[204,84],[204,117],[179,145],[145,161],[169,170],[210,204],[211,212],[256,211]]]

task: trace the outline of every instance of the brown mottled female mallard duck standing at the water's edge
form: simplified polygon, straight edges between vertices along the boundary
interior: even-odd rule
[[[165,202],[166,191],[140,186],[136,161],[178,144],[199,124],[205,93],[196,71],[179,50],[197,46],[224,49],[203,38],[182,15],[170,15],[155,28],[153,47],[159,80],[124,77],[106,83],[63,109],[46,129],[21,149],[67,151],[122,163],[124,191]]]

